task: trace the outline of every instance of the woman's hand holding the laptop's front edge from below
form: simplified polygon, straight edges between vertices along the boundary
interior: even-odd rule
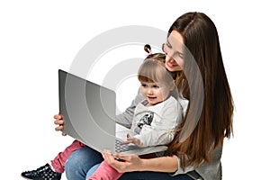
[[[136,155],[122,155],[116,153],[115,156],[113,156],[112,152],[109,150],[104,150],[102,154],[104,161],[120,173],[142,170],[140,169],[142,159]]]

